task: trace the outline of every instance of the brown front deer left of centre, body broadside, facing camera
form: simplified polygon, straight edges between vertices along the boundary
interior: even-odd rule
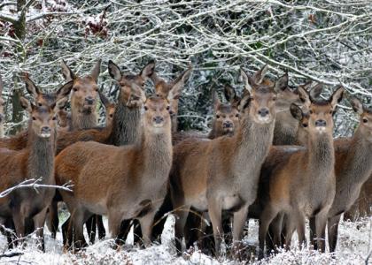
[[[74,183],[74,193],[61,194],[72,215],[75,246],[84,245],[82,223],[92,214],[108,215],[113,238],[119,235],[122,220],[138,219],[145,245],[151,242],[153,217],[166,196],[172,164],[168,111],[173,98],[152,96],[146,100],[143,94],[134,100],[144,101],[140,142],[126,147],[76,143],[56,158],[57,183]],[[102,159],[105,163],[97,167]]]

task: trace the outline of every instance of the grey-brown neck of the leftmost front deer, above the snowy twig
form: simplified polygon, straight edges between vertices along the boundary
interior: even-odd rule
[[[28,132],[27,178],[42,178],[41,183],[50,183],[54,180],[57,132],[52,132],[48,139],[39,137],[31,128]]]

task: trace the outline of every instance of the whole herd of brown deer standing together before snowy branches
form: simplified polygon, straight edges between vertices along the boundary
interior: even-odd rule
[[[11,138],[3,135],[0,99],[0,191],[28,178],[41,178],[39,184],[49,186],[19,188],[0,198],[9,246],[36,231],[44,249],[44,223],[56,237],[58,201],[64,201],[70,212],[62,225],[64,244],[76,249],[87,245],[84,224],[91,243],[96,231],[105,238],[102,216],[108,217],[118,243],[139,222],[134,223],[136,234],[148,246],[173,211],[180,253],[195,241],[211,247],[205,245],[211,226],[204,220],[209,219],[214,254],[229,232],[238,254],[247,218],[260,220],[260,258],[265,245],[267,251],[290,247],[294,231],[298,243],[305,244],[306,218],[311,243],[322,252],[328,224],[333,252],[340,216],[358,201],[367,200],[363,204],[370,207],[372,110],[350,98],[360,124],[353,137],[334,140],[333,115],[343,87],[324,100],[320,84],[291,88],[288,74],[275,82],[266,79],[267,66],[253,75],[241,70],[244,92],[238,96],[225,87],[227,103],[214,92],[212,131],[204,135],[177,129],[179,97],[191,68],[167,82],[155,72],[154,62],[132,75],[109,61],[108,72],[119,86],[114,104],[98,90],[100,64],[80,77],[63,62],[66,84],[50,94],[22,74],[33,100],[21,97],[20,103],[30,118],[27,130]],[[155,95],[145,95],[147,79]],[[3,87],[0,79],[0,91]],[[106,108],[101,127],[98,98]],[[66,111],[69,99],[71,112]],[[52,188],[68,182],[73,192]],[[360,194],[365,198],[360,200]]]

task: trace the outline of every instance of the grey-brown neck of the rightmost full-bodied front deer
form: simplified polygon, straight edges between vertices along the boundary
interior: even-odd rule
[[[335,167],[335,148],[331,133],[309,133],[307,141],[308,169],[312,175],[319,178],[329,176],[333,178],[332,172]]]

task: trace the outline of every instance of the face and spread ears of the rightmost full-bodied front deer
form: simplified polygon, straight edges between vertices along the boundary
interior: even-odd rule
[[[305,89],[299,88],[301,101],[308,109],[308,130],[310,133],[332,133],[333,114],[337,107],[337,102],[342,100],[345,89],[338,87],[328,101],[315,101],[310,93]]]

